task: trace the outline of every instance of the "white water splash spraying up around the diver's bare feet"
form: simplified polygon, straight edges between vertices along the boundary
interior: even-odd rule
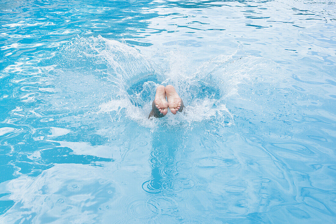
[[[146,51],[142,48],[140,52],[126,43],[100,35],[88,39],[77,37],[76,43],[84,46],[86,57],[108,66],[107,78],[113,83],[109,93],[111,99],[99,105],[97,114],[107,113],[112,120],[119,121],[123,117],[123,122],[132,120],[152,128],[162,125],[162,122],[176,125],[209,119],[216,119],[218,125],[234,124],[234,116],[226,107],[227,101],[241,98],[242,85],[250,85],[258,78],[263,82],[269,79],[271,76],[265,76],[265,72],[260,77],[260,71],[271,72],[275,67],[270,60],[246,54],[242,47],[233,54],[217,55],[196,63],[191,55],[180,50],[160,52],[158,56],[152,49],[145,48]],[[146,81],[150,77],[157,79],[158,83]],[[139,80],[145,81],[143,90],[130,96],[129,88]],[[186,106],[183,114],[170,116],[168,112],[166,119],[148,119],[159,84],[174,85]],[[204,86],[209,87],[210,92],[200,98]],[[142,98],[143,93],[149,94],[150,98]]]

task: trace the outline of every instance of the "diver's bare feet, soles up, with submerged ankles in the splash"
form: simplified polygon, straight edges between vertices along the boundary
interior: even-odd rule
[[[149,117],[163,117],[167,114],[168,108],[173,114],[176,114],[178,111],[181,112],[183,107],[183,101],[178,96],[174,86],[167,85],[165,87],[159,85],[156,89],[155,99]]]

